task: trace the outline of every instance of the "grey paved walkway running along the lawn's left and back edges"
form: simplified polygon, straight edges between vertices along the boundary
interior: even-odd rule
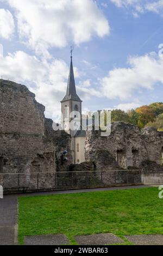
[[[35,192],[27,194],[4,195],[4,199],[0,199],[0,245],[16,245],[17,244],[17,198],[27,196],[46,196],[48,194],[70,194],[83,193],[93,191],[108,190],[129,190],[131,188],[150,187],[146,185],[138,186],[120,186],[105,188],[88,188],[80,190]]]

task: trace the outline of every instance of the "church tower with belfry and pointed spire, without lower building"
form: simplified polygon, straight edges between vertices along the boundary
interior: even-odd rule
[[[76,118],[80,122],[82,118],[82,100],[76,92],[76,83],[74,80],[73,64],[72,64],[72,48],[71,48],[71,63],[68,76],[67,92],[64,99],[61,100],[62,112],[62,129],[66,130],[72,137],[77,133],[77,130],[71,129],[71,121]],[[77,113],[79,113],[79,115]],[[78,119],[79,116],[79,119]]]

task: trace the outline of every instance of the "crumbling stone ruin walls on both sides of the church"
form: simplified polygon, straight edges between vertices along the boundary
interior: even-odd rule
[[[54,131],[53,121],[45,118],[44,111],[45,107],[36,102],[26,86],[0,80],[0,182],[5,187],[24,184],[30,190],[53,189],[55,174],[72,169],[81,172],[87,168],[142,168],[144,173],[149,169],[150,173],[162,172],[163,132],[152,127],[141,131],[137,126],[120,122],[112,123],[108,137],[101,137],[100,131],[87,131],[87,163],[71,166],[71,136],[65,131]],[[68,161],[62,165],[64,150],[68,152]],[[111,182],[111,176],[107,177],[104,174],[103,182]],[[126,177],[124,180],[129,179],[128,173]]]

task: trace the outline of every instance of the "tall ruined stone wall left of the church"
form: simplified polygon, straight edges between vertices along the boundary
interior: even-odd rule
[[[44,111],[26,86],[0,80],[1,174],[30,176],[65,169],[60,155],[63,149],[71,154],[71,137],[53,131],[52,120],[45,118]],[[71,156],[69,161],[72,163]]]

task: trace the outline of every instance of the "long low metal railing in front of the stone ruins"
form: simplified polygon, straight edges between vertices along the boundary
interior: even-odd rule
[[[0,173],[5,189],[28,187],[28,191],[64,190],[67,188],[105,187],[117,184],[140,184],[141,170],[101,170],[55,173]]]

